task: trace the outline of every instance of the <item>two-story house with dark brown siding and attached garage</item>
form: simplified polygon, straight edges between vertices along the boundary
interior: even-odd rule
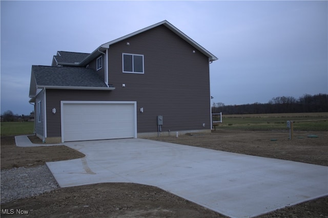
[[[32,66],[35,134],[45,142],[211,131],[217,58],[164,20],[92,53],[58,51]]]

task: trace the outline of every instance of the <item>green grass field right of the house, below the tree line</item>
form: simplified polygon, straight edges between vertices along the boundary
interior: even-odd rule
[[[293,121],[294,130],[328,131],[328,113],[222,115],[222,123],[216,128],[288,130],[288,120]]]

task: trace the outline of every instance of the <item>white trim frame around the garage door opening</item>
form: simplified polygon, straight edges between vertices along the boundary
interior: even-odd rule
[[[61,142],[64,136],[64,104],[133,104],[134,105],[134,138],[137,138],[137,102],[136,101],[60,101]]]

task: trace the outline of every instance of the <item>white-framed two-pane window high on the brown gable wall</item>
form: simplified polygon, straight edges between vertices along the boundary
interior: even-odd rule
[[[144,55],[122,53],[123,73],[144,73]]]

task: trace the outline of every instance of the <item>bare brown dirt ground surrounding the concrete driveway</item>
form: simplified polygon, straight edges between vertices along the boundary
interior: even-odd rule
[[[318,138],[308,138],[309,135],[317,135]],[[295,132],[293,140],[288,138],[289,132],[216,130],[212,134],[153,139],[328,166],[327,132]],[[1,169],[33,167],[47,161],[83,156],[65,146],[19,148],[15,146],[13,137],[1,137]],[[225,217],[159,188],[131,183],[59,188],[36,197],[2,204],[1,209],[29,210],[30,217]],[[22,217],[18,214],[8,216]],[[328,197],[259,217],[328,217]]]

